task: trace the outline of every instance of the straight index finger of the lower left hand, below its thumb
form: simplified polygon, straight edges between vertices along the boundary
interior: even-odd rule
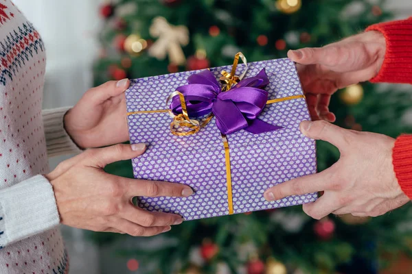
[[[189,197],[193,190],[185,184],[122,178],[128,201],[133,197]]]

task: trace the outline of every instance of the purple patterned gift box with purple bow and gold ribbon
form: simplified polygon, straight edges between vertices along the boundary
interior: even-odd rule
[[[232,66],[135,79],[126,103],[130,142],[147,145],[132,160],[135,178],[194,190],[191,197],[137,197],[140,208],[194,220],[317,199],[263,197],[276,184],[317,171],[314,140],[299,131],[310,115],[289,59],[235,59]]]

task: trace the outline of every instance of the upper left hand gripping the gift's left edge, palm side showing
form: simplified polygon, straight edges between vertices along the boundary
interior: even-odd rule
[[[107,82],[84,93],[65,115],[65,129],[79,147],[104,147],[126,142],[126,97],[130,82]]]

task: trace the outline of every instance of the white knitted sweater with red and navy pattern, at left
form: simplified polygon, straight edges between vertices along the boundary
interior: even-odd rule
[[[41,110],[45,48],[10,0],[0,0],[0,273],[67,273],[49,156],[78,152],[67,109]]]

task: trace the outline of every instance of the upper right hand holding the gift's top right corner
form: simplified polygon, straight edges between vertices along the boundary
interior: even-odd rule
[[[378,75],[386,42],[380,32],[364,32],[321,48],[289,51],[306,94],[313,120],[334,122],[329,111],[331,95],[340,88],[365,82]]]

